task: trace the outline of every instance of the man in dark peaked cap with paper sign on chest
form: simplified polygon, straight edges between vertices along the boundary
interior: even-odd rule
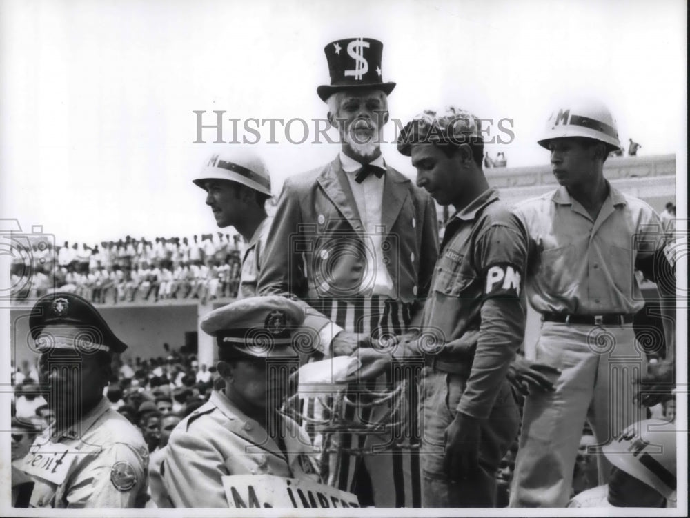
[[[55,412],[18,466],[34,481],[30,506],[143,508],[148,448],[103,396],[112,354],[127,346],[88,301],[70,293],[39,299],[29,327]]]

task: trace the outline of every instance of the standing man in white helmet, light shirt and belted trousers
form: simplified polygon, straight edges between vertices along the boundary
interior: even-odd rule
[[[564,103],[538,143],[551,152],[560,187],[520,203],[516,212],[529,235],[526,297],[543,321],[536,360],[562,373],[554,392],[526,399],[510,505],[562,507],[585,420],[598,445],[605,444],[643,417],[640,401],[657,402],[651,395],[635,399],[639,379],[673,379],[671,326],[665,330],[664,361],[648,371],[632,323],[644,308],[634,272],[660,286],[662,308],[669,295],[664,286],[675,288],[675,274],[659,216],[604,178],[604,161],[620,148],[606,106]],[[673,323],[668,316],[664,324]],[[663,357],[662,345],[661,339],[653,344]],[[604,484],[611,466],[601,454],[598,464]]]

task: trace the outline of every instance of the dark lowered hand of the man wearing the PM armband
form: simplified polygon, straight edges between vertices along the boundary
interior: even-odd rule
[[[451,481],[475,477],[479,470],[480,420],[457,412],[446,428],[443,468]]]

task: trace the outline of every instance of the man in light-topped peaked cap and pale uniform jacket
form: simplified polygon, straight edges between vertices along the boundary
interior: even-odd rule
[[[222,477],[276,475],[319,482],[315,449],[279,413],[296,368],[292,334],[304,311],[285,297],[248,297],[210,312],[201,329],[216,337],[225,388],[172,431],[161,466],[175,507],[228,507]]]

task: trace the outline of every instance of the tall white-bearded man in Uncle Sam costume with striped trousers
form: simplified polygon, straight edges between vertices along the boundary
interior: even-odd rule
[[[383,79],[382,50],[370,38],[326,45],[331,83],[317,94],[341,149],[331,163],[285,181],[264,251],[259,293],[299,299],[304,325],[319,335],[313,359],[357,355],[372,340],[404,333],[424,305],[437,258],[433,201],[381,155],[395,87]],[[344,415],[328,415],[328,402],[327,396],[304,401],[306,426],[329,420],[366,426],[389,408],[345,406]],[[310,435],[322,445],[322,435]],[[355,492],[362,504],[420,505],[418,450],[390,434],[331,437],[338,447],[325,466],[328,484]],[[373,452],[375,444],[388,446]]]

